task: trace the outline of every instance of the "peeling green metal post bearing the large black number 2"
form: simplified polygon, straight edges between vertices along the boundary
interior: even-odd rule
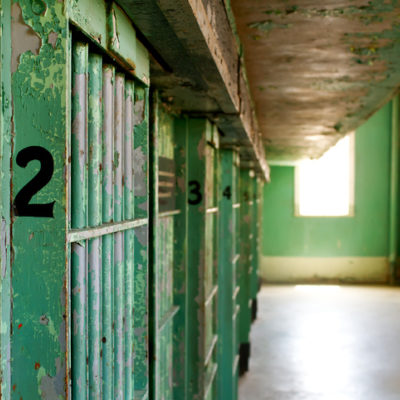
[[[68,24],[56,0],[13,2],[11,14],[11,398],[66,398]]]

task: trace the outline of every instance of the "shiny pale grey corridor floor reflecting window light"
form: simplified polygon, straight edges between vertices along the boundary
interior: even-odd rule
[[[399,400],[400,289],[265,286],[240,400]]]

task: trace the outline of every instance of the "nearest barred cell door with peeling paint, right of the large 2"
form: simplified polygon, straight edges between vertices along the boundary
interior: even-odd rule
[[[72,40],[72,399],[146,396],[147,89]]]

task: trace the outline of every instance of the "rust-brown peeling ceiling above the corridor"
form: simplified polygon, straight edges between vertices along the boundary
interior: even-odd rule
[[[267,159],[318,158],[400,83],[398,0],[231,0]]]

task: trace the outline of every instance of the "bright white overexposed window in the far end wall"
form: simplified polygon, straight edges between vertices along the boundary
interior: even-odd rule
[[[341,139],[318,160],[296,166],[295,212],[305,217],[354,213],[354,134]]]

